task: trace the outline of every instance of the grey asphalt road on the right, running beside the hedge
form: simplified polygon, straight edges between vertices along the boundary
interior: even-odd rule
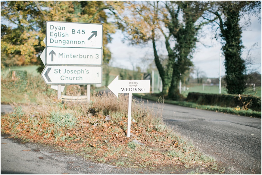
[[[201,151],[228,164],[231,173],[261,174],[261,118],[169,104],[163,118]]]

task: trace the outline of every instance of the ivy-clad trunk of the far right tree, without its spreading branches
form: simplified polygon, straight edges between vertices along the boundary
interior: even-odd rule
[[[228,4],[224,10],[226,21],[224,24],[220,21],[220,29],[222,39],[226,41],[222,47],[225,56],[226,89],[229,94],[242,94],[246,88],[244,75],[246,67],[245,61],[241,58],[243,45],[239,26],[240,12],[234,4]]]

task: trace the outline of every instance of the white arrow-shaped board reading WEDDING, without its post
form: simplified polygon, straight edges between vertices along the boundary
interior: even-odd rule
[[[108,88],[117,97],[118,93],[148,93],[150,92],[150,80],[118,80],[117,75]]]

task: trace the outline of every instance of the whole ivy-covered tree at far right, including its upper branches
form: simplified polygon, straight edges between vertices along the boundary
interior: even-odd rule
[[[217,9],[210,12],[218,18],[222,38],[222,51],[225,56],[226,89],[229,94],[242,94],[246,84],[246,63],[242,59],[241,34],[239,21],[243,15],[261,12],[261,1],[226,1],[217,2]],[[261,19],[261,18],[260,18]]]

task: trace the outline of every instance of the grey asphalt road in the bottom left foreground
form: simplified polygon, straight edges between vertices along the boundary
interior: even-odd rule
[[[12,138],[1,135],[1,174],[143,173],[148,174],[150,172],[94,163],[87,161],[81,156],[63,152],[51,145],[36,143],[21,144]]]

